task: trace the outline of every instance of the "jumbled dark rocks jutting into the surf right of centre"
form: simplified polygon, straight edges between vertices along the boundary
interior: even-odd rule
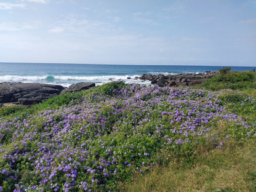
[[[160,87],[168,86],[195,86],[196,84],[201,84],[206,81],[206,79],[212,78],[215,74],[219,72],[210,72],[206,73],[183,73],[183,74],[142,74],[140,79],[151,81],[151,84],[157,84]]]

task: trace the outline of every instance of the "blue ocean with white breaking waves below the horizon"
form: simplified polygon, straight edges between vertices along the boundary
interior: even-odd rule
[[[68,87],[76,82],[106,82],[122,80],[126,83],[150,84],[135,79],[145,74],[180,74],[218,71],[223,66],[191,65],[94,65],[63,63],[0,63],[0,82],[38,82]],[[231,66],[234,71],[254,70],[254,66]],[[130,79],[127,79],[130,78]]]

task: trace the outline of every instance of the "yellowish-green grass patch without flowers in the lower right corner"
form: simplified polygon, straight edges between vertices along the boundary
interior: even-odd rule
[[[123,191],[256,191],[256,143],[229,140],[225,148],[198,148],[190,165],[170,161],[134,177]],[[185,166],[185,168],[184,168]]]

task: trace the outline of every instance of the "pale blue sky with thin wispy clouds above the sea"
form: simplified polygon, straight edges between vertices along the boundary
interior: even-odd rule
[[[256,1],[0,0],[0,62],[256,66]]]

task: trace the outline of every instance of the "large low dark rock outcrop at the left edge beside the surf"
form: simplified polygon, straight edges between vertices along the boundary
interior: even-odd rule
[[[1,82],[0,103],[32,105],[60,94],[63,89],[52,84]]]

